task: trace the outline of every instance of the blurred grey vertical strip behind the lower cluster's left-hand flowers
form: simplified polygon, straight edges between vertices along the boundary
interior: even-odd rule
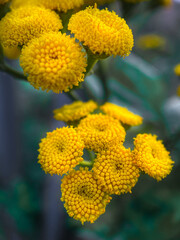
[[[71,103],[64,94],[53,95],[53,109]],[[53,110],[52,109],[52,110]],[[49,131],[63,127],[64,123],[52,119]],[[43,196],[43,240],[64,240],[65,231],[65,210],[60,201],[60,176],[46,175]]]

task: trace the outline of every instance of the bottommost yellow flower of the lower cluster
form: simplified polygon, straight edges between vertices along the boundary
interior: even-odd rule
[[[61,185],[64,207],[70,217],[93,223],[105,212],[111,197],[98,185],[88,168],[72,171],[62,179]]]

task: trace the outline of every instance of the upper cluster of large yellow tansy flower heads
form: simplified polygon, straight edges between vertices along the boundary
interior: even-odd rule
[[[0,43],[22,49],[20,65],[36,89],[68,92],[84,81],[92,60],[130,54],[134,41],[125,20],[96,4],[78,12],[83,4],[84,0],[13,0],[0,21]],[[69,20],[74,8],[77,13]],[[75,37],[67,35],[67,28]]]

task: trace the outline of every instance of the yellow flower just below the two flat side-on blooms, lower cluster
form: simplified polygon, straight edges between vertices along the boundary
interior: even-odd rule
[[[85,147],[97,152],[112,144],[123,142],[126,135],[118,120],[102,114],[92,114],[82,119],[77,131]]]

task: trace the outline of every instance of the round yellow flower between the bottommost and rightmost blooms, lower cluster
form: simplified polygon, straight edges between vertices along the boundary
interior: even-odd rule
[[[109,194],[131,193],[139,177],[131,150],[122,145],[113,145],[99,153],[92,170],[98,183]]]

